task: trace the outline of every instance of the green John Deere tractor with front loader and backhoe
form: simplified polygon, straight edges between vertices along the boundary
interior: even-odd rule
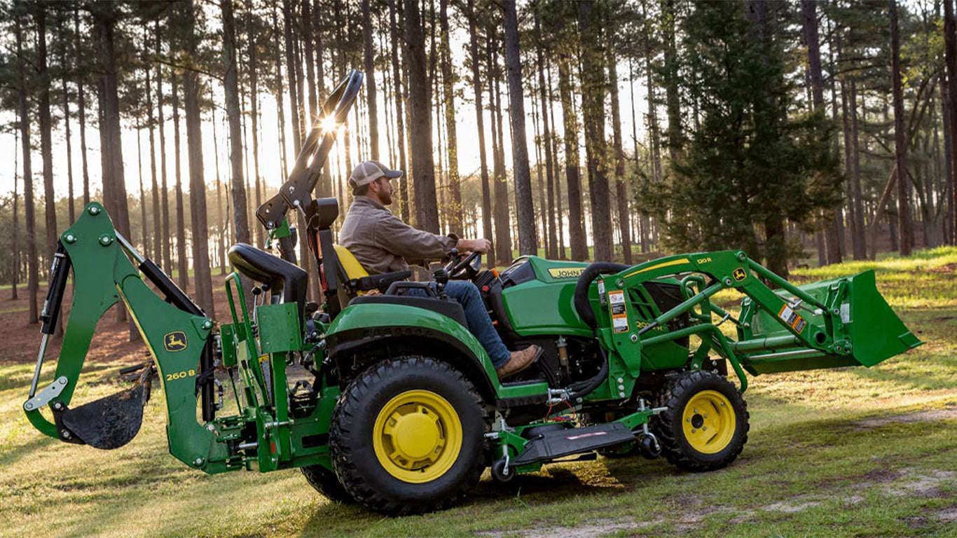
[[[339,84],[326,124],[345,120],[362,79],[353,71]],[[222,323],[138,253],[100,204],[85,208],[59,236],[23,405],[33,426],[121,447],[139,431],[155,372],[169,452],[186,465],[210,474],[298,467],[330,499],[420,513],[459,502],[488,467],[498,482],[596,454],[720,469],[747,440],[746,372],[870,367],[921,344],[873,271],[795,286],[741,251],[634,266],[523,257],[501,273],[482,270],[478,255],[455,256],[436,271],[430,297],[410,296],[426,283],[408,272],[368,275],[334,244],[336,200],[311,195],[335,137],[321,125],[256,213],[281,256],[231,249]],[[321,305],[307,301],[289,210],[306,217]],[[71,269],[56,373],[39,387]],[[449,279],[475,282],[509,347],[543,347],[533,368],[499,379],[461,306],[445,297]],[[736,315],[711,301],[725,289],[745,296]],[[126,391],[73,406],[97,322],[121,300],[155,366]]]

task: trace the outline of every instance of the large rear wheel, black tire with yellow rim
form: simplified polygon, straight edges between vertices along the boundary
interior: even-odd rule
[[[484,413],[472,384],[431,358],[379,363],[332,415],[332,464],[359,503],[388,514],[443,509],[479,482]]]

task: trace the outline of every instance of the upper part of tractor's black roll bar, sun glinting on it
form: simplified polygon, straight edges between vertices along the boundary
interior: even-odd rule
[[[316,118],[309,136],[302,143],[289,178],[275,196],[256,210],[256,218],[267,230],[278,228],[290,209],[305,210],[312,202],[312,191],[319,181],[329,151],[336,142],[336,129],[329,127],[345,122],[362,89],[364,78],[362,72],[353,69],[336,85],[323,103],[323,116]]]

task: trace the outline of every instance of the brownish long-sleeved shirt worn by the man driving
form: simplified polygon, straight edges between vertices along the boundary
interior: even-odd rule
[[[368,196],[356,196],[345,213],[339,244],[349,249],[369,274],[405,271],[409,264],[444,258],[456,238],[412,228]]]

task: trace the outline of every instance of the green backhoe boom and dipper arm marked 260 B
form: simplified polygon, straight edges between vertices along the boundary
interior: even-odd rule
[[[45,320],[44,340],[37,357],[33,386],[24,404],[33,426],[50,437],[85,442],[99,448],[116,448],[116,443],[108,441],[106,446],[99,446],[96,440],[81,438],[78,432],[65,425],[69,421],[61,417],[80,409],[70,410],[69,406],[97,324],[107,309],[122,301],[154,359],[166,393],[170,453],[195,467],[204,467],[208,460],[225,460],[228,456],[226,447],[214,442],[212,432],[196,420],[197,388],[203,389],[204,393],[204,419],[211,420],[212,321],[151,260],[133,250],[113,228],[100,204],[91,203],[86,207],[76,224],[60,235],[60,246],[58,253],[63,254],[65,262],[61,262],[56,274],[52,275],[53,287],[44,304],[44,314],[52,319]],[[166,295],[166,301],[146,285],[127,254],[137,260],[140,270]],[[73,305],[56,362],[54,381],[35,393],[45,345],[56,326],[58,303],[62,300],[63,286],[57,287],[56,281],[65,281],[65,271],[71,266]],[[210,373],[197,384],[197,375],[202,371]],[[40,413],[45,406],[53,411],[54,422]],[[109,421],[109,417],[103,418]],[[137,424],[136,430],[138,428]],[[135,433],[133,431],[132,435]],[[122,440],[121,444],[128,440]]]

